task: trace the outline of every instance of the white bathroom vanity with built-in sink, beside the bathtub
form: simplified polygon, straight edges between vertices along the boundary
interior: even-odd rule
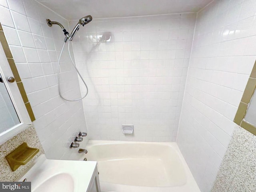
[[[49,160],[41,155],[18,181],[32,192],[100,192],[96,161]]]

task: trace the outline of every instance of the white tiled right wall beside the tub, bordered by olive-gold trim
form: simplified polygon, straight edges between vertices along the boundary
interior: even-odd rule
[[[216,178],[256,59],[255,10],[254,0],[215,0],[198,13],[177,142],[202,192]]]

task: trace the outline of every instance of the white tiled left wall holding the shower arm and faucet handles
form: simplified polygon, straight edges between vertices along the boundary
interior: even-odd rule
[[[86,132],[82,101],[64,102],[58,95],[56,70],[64,34],[59,26],[50,28],[46,18],[68,28],[67,20],[34,0],[0,1],[0,22],[34,111],[33,124],[45,154],[47,158],[77,159],[80,154],[68,145],[79,131]],[[62,92],[66,98],[79,98],[72,64],[63,62],[64,58],[61,61]]]

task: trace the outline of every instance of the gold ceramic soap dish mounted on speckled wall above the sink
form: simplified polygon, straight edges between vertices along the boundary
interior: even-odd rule
[[[21,165],[27,164],[38,152],[39,149],[31,148],[27,143],[22,143],[18,148],[6,155],[5,158],[12,171],[15,171]]]

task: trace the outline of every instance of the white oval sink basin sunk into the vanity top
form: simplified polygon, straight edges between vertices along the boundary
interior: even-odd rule
[[[54,175],[36,187],[33,192],[74,192],[74,180],[70,174]]]

